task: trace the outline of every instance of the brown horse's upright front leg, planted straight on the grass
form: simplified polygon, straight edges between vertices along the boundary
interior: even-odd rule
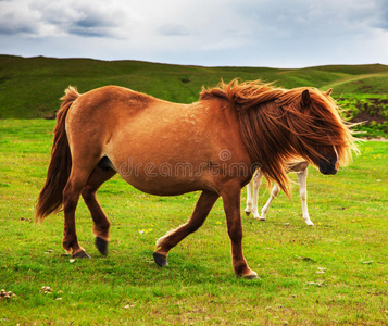
[[[237,276],[255,278],[258,274],[248,267],[242,253],[240,195],[241,188],[238,185],[228,185],[221,193],[224,202],[228,235],[231,242],[231,264]]]

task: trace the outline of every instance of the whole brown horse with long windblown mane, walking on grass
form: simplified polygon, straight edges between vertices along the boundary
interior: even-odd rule
[[[242,253],[240,192],[261,166],[289,195],[285,162],[303,158],[335,174],[356,150],[349,127],[328,93],[286,90],[260,82],[202,88],[200,100],[177,104],[108,86],[79,95],[70,87],[58,113],[51,162],[36,218],[64,211],[63,248],[88,258],[79,246],[75,210],[82,195],[93,221],[96,246],[107,254],[110,221],[96,199],[118,173],[137,189],[159,196],[201,190],[189,221],[157,242],[157,264],[206,218],[221,196],[231,241],[234,272],[256,277]]]

